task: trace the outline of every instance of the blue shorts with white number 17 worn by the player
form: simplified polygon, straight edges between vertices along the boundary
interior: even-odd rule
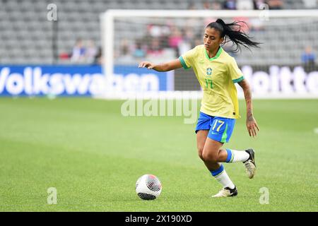
[[[213,117],[200,112],[196,133],[199,130],[208,130],[208,138],[221,143],[228,143],[234,129],[235,119]]]

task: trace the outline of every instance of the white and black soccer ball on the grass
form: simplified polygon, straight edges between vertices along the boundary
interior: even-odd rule
[[[143,200],[153,200],[161,193],[161,183],[158,177],[152,174],[145,174],[136,182],[136,194]]]

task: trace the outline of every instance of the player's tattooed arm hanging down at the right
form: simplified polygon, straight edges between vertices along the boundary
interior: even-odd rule
[[[253,105],[252,105],[252,92],[249,88],[249,83],[247,83],[246,79],[243,79],[239,82],[239,85],[242,87],[244,91],[246,107],[247,107],[247,117],[246,117],[246,126],[247,131],[249,132],[249,136],[257,136],[257,131],[259,131],[259,126],[257,125],[257,121],[253,116]]]

